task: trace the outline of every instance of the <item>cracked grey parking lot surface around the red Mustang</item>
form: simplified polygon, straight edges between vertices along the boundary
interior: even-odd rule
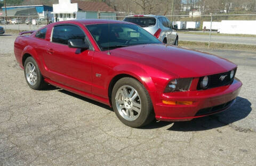
[[[48,86],[29,89],[0,36],[0,165],[256,165],[255,52],[210,50],[239,65],[237,102],[188,122],[135,129],[107,106]],[[209,51],[209,50],[206,50]]]

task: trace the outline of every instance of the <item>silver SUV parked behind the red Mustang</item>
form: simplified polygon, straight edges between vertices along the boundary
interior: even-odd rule
[[[163,43],[178,46],[179,36],[171,22],[163,15],[129,15],[123,21],[140,25]]]

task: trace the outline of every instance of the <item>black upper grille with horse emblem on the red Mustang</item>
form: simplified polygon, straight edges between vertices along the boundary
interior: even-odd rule
[[[229,72],[225,72],[225,73],[219,73],[219,74],[214,74],[214,75],[209,75],[209,84],[207,86],[206,89],[210,89],[210,88],[216,88],[216,87],[219,87],[219,86],[225,86],[225,85],[230,85],[233,83],[234,81],[234,78],[235,78],[235,74],[236,74],[236,68],[234,69],[234,76],[232,79],[230,79],[230,73],[231,71]],[[224,80],[221,80],[220,77],[221,76],[226,76],[224,78]],[[203,80],[204,77],[200,77],[199,78],[199,81],[198,81],[198,84],[197,84],[197,90],[202,90],[201,88],[201,81]]]

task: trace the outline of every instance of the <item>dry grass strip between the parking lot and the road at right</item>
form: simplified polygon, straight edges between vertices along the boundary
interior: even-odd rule
[[[197,48],[197,47],[208,48],[208,42],[179,41],[179,46],[192,47],[192,48]],[[219,43],[219,42],[211,42],[210,48],[256,51],[256,45],[239,45],[239,44],[229,44],[229,43]]]

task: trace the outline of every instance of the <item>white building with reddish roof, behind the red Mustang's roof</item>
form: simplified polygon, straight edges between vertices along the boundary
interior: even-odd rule
[[[54,21],[74,19],[113,19],[115,10],[103,2],[59,0],[53,4]]]

